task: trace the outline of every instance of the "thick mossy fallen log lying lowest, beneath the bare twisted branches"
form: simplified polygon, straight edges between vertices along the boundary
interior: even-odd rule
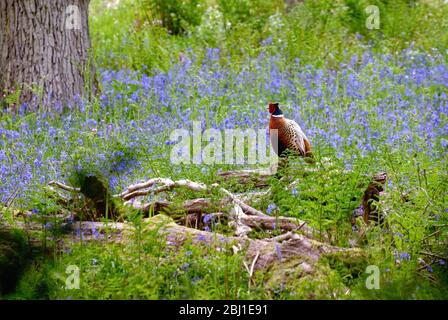
[[[292,232],[268,239],[226,236],[180,226],[163,214],[145,219],[145,223],[145,231],[156,229],[166,237],[168,244],[175,247],[191,241],[212,249],[226,247],[242,252],[245,265],[250,266],[247,267],[248,272],[266,272],[265,281],[272,288],[290,277],[322,273],[322,268],[328,267],[330,260],[340,260],[343,264],[360,268],[367,264],[367,255],[362,249],[336,247]]]

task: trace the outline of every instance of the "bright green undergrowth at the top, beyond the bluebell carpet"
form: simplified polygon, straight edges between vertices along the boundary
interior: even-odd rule
[[[361,55],[370,44],[375,51],[396,54],[409,47],[438,51],[446,56],[448,8],[443,1],[305,1],[288,8],[280,0],[192,1],[184,14],[202,15],[201,22],[187,25],[184,34],[170,35],[160,25],[162,8],[157,0],[121,0],[115,9],[107,1],[92,1],[91,36],[100,65],[151,73],[168,70],[183,54],[201,57],[207,48],[220,48],[223,59],[235,67],[262,52],[261,43],[272,39],[267,54],[281,53],[303,65],[339,63]],[[197,10],[196,2],[201,8]],[[380,29],[366,28],[365,8],[380,10]],[[153,8],[153,10],[151,10]],[[182,19],[182,16],[179,17]]]

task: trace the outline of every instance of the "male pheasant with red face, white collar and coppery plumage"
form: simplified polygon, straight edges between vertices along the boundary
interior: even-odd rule
[[[301,157],[312,158],[310,141],[297,122],[286,119],[278,103],[269,103],[269,113],[269,136],[277,155],[283,156],[289,150]]]

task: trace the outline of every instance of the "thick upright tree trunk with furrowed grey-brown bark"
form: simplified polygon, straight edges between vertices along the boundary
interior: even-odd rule
[[[20,90],[15,106],[59,111],[95,92],[88,7],[89,0],[0,1],[0,90]]]

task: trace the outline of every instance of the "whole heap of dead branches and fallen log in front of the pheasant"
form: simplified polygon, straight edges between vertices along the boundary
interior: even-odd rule
[[[240,183],[253,183],[259,188],[266,187],[270,172],[243,170],[219,174],[223,179],[237,178]],[[64,191],[71,193],[80,190],[59,182],[51,182]],[[175,189],[186,188],[202,194],[202,197],[188,199],[182,203],[169,200]],[[282,216],[269,216],[256,209],[252,203],[269,195],[270,190],[251,191],[245,194],[233,194],[218,183],[206,185],[188,179],[172,180],[169,178],[152,178],[145,182],[130,185],[123,192],[113,195],[126,206],[146,213],[148,227],[158,228],[158,232],[166,236],[169,244],[179,246],[187,239],[195,244],[205,244],[212,247],[227,247],[234,252],[245,254],[247,271],[267,268],[274,263],[283,263],[297,259],[299,265],[306,265],[306,272],[313,272],[313,265],[328,254],[349,254],[353,257],[362,256],[362,251],[356,248],[341,248],[332,246],[328,239],[305,221]],[[215,197],[212,197],[212,194]],[[216,193],[221,197],[216,200]],[[147,196],[160,195],[156,199],[145,202]],[[164,197],[164,195],[166,195]],[[204,195],[206,195],[204,197]],[[207,219],[204,219],[207,216]],[[211,226],[211,222],[227,224],[233,234],[224,235],[203,230]],[[97,225],[95,229],[104,229]],[[123,226],[130,224],[123,224]],[[116,224],[114,230],[128,230]],[[162,227],[161,227],[162,226]],[[82,229],[82,225],[80,227]],[[264,238],[254,238],[262,237]],[[319,240],[318,240],[319,239]]]

